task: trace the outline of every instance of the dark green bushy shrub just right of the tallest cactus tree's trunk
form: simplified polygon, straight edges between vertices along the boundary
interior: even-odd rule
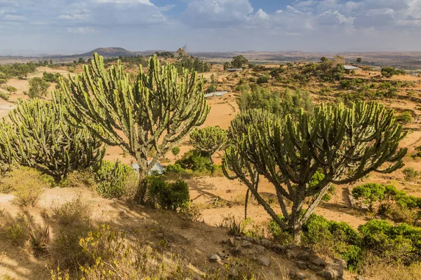
[[[190,196],[187,183],[182,180],[168,183],[162,176],[147,176],[149,200],[162,209],[177,211],[187,207]]]

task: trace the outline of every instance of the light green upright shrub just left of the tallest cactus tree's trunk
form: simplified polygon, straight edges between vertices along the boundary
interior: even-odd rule
[[[122,197],[125,194],[128,178],[133,174],[135,171],[129,165],[119,161],[102,160],[100,168],[95,174],[95,179],[98,182],[97,192],[107,198]]]

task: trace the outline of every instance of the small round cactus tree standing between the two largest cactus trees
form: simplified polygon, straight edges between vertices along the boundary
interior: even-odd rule
[[[220,127],[205,127],[190,133],[190,145],[209,157],[213,164],[213,154],[227,146],[227,132]]]

